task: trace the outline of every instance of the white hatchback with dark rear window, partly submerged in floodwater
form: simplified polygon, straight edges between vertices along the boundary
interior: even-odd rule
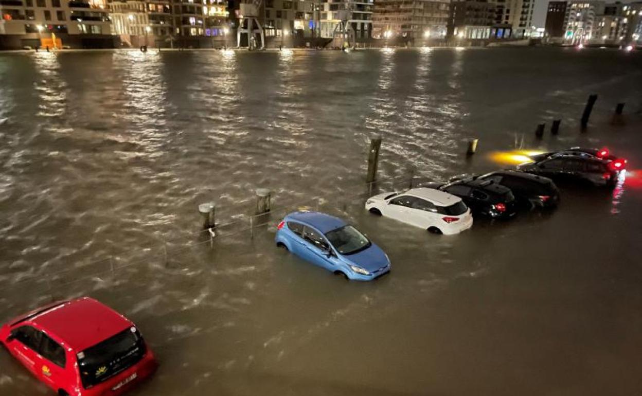
[[[435,234],[458,234],[473,226],[473,215],[462,198],[426,187],[372,196],[365,209]]]

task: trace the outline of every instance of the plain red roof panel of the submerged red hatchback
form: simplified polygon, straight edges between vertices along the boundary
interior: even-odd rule
[[[82,297],[52,307],[30,319],[46,332],[80,352],[107,340],[133,324],[110,307]]]

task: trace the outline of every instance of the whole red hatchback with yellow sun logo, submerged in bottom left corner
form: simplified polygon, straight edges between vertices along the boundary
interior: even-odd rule
[[[134,323],[89,297],[15,318],[0,342],[61,396],[120,395],[157,367]]]

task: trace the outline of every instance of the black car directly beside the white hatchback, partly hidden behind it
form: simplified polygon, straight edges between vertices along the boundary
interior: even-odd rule
[[[473,214],[483,214],[491,218],[511,218],[517,212],[517,202],[510,189],[492,181],[465,179],[445,184],[428,183],[424,186],[462,198]]]

